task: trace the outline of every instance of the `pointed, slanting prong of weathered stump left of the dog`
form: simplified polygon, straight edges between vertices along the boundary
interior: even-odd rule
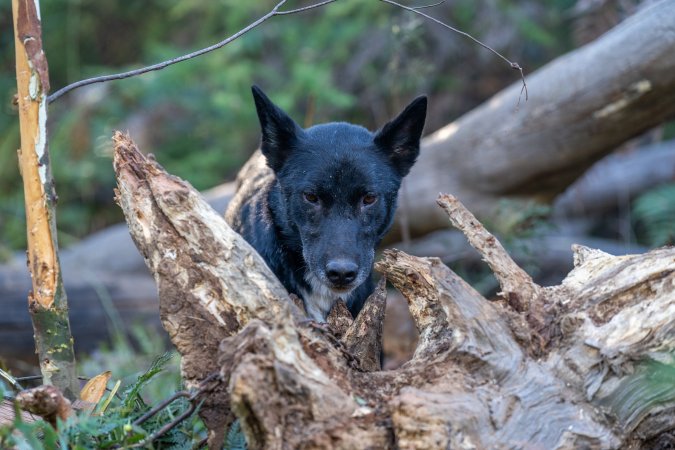
[[[192,186],[145,157],[128,136],[117,132],[113,141],[116,200],[157,282],[160,318],[183,355],[183,377],[196,387],[219,370],[222,339],[251,319],[274,320],[283,308],[297,307]],[[217,445],[229,421],[228,396],[221,386],[203,400],[200,415],[212,431],[210,445]]]

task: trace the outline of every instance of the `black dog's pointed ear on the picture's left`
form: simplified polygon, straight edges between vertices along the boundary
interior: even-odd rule
[[[260,150],[267,159],[267,165],[276,172],[283,167],[303,130],[258,86],[251,86],[251,91],[262,129]]]

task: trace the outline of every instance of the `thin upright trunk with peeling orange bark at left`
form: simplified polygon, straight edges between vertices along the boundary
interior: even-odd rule
[[[44,383],[74,399],[79,385],[56,242],[56,191],[47,149],[49,70],[42,51],[39,4],[37,0],[13,0],[12,12],[21,133],[19,167],[32,277],[28,308]]]

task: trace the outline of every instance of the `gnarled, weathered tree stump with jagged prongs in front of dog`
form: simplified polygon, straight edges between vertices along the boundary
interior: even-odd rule
[[[435,258],[388,251],[376,269],[408,301],[413,358],[379,371],[383,284],[353,322],[308,321],[260,256],[199,193],[115,136],[117,199],[153,273],[213,448],[238,418],[250,448],[658,448],[675,392],[675,249],[575,248],[542,288],[454,197],[439,204],[501,284],[490,302]],[[668,366],[672,367],[672,366]],[[653,387],[653,386],[652,386]],[[649,395],[644,395],[648,392]]]

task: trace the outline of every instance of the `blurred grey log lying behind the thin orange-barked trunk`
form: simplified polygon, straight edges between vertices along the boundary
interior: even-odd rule
[[[203,195],[216,211],[223,211],[233,191],[234,183],[226,183]],[[163,333],[157,315],[157,286],[126,223],[103,229],[61,250],[59,259],[77,354],[95,350],[115,333],[129,334],[137,324]],[[37,362],[26,308],[30,290],[25,255],[0,266],[0,356],[14,368],[16,360]]]

